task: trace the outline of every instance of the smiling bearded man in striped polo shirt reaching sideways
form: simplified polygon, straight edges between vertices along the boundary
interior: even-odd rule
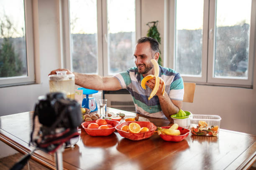
[[[148,100],[148,96],[154,89],[155,80],[146,82],[146,90],[141,87],[141,80],[147,75],[154,75],[154,66],[151,59],[159,59],[159,43],[151,37],[142,37],[137,41],[134,50],[135,64],[137,67],[130,68],[126,72],[120,72],[112,77],[101,77],[99,75],[85,75],[73,72],[75,83],[79,86],[94,90],[120,90],[127,89],[133,98],[136,112],[149,117],[167,117],[176,114],[182,108],[184,85],[179,73],[166,67],[159,66],[160,79],[159,89],[156,95]],[[67,73],[72,73],[67,69]],[[56,71],[51,74],[56,74]],[[162,91],[164,88],[164,95]]]

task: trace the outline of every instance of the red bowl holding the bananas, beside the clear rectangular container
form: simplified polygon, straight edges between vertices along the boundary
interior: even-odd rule
[[[170,127],[171,126],[164,126],[161,128],[168,129]],[[179,142],[179,141],[182,141],[184,138],[186,138],[187,135],[189,135],[189,133],[191,132],[191,130],[182,128],[182,127],[178,127],[178,130],[180,131],[180,135],[162,135],[161,134],[160,137],[166,141]]]

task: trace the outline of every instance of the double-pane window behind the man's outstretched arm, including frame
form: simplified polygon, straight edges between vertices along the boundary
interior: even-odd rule
[[[136,0],[69,0],[70,69],[108,76],[134,67],[139,4]]]

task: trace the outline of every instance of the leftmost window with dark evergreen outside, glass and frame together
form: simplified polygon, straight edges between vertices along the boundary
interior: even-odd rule
[[[33,83],[31,0],[2,0],[0,8],[0,87]]]

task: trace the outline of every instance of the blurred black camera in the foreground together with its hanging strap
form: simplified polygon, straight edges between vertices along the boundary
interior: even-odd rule
[[[77,101],[66,98],[60,92],[38,97],[33,115],[31,142],[47,153],[54,153],[64,143],[69,145],[71,138],[78,139],[78,126],[82,123],[80,107]],[[41,127],[34,137],[36,116]]]

